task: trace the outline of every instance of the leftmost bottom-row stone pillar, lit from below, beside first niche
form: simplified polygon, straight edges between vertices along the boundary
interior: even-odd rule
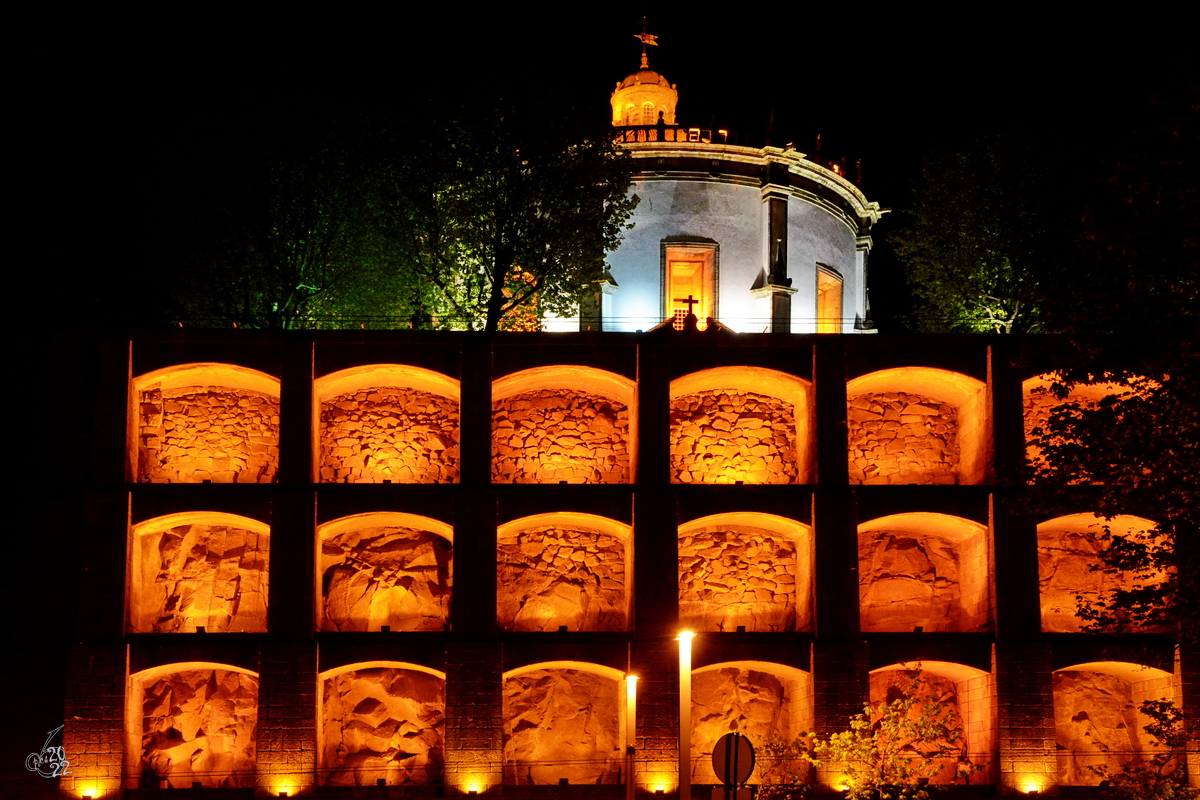
[[[74,644],[67,651],[65,727],[61,740],[55,736],[49,745],[62,745],[71,774],[59,788],[73,796],[85,789],[100,789],[94,796],[114,796],[121,788],[128,668],[125,644]],[[36,750],[41,745],[36,742]],[[132,758],[136,763],[137,756]],[[136,775],[125,784],[136,787]]]

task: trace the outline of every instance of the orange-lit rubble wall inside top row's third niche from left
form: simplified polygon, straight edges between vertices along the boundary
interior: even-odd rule
[[[496,483],[628,483],[629,408],[556,389],[492,404]]]

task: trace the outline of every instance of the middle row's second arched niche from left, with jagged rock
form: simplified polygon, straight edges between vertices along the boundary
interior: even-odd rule
[[[317,529],[318,628],[443,631],[450,626],[454,529],[371,512]]]

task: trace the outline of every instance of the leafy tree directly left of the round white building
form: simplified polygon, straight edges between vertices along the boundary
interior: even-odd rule
[[[398,152],[390,196],[389,235],[420,302],[488,331],[534,303],[574,313],[637,204],[628,156],[562,109],[481,98],[428,118]]]

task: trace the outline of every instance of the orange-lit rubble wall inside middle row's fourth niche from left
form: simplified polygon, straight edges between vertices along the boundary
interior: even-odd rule
[[[722,525],[682,534],[679,624],[695,631],[798,630],[796,571],[796,542],[774,531]]]

